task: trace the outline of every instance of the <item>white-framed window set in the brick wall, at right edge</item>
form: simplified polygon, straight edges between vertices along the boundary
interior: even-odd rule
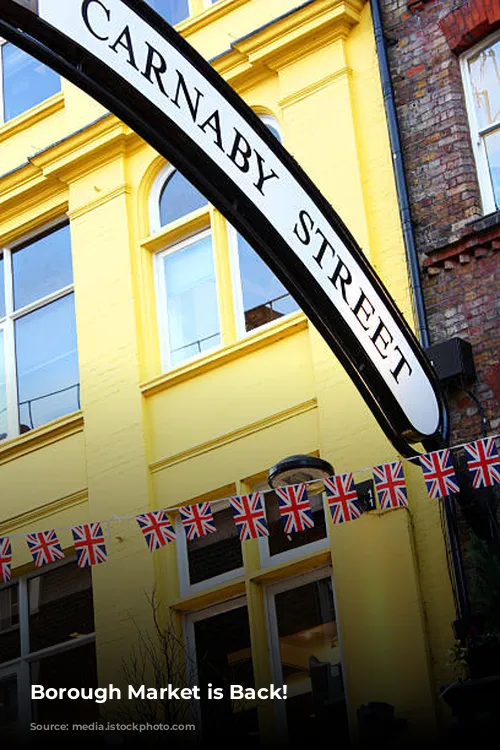
[[[500,209],[500,36],[462,57],[472,143],[485,213]]]

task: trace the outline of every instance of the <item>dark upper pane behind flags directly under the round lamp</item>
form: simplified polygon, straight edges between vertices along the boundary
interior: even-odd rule
[[[326,538],[326,520],[323,509],[322,495],[310,495],[312,517],[314,527],[305,531],[297,531],[293,534],[285,534],[284,524],[279,512],[278,499],[274,492],[266,492],[266,517],[269,526],[269,554],[278,555],[304,544],[311,544],[319,539]]]

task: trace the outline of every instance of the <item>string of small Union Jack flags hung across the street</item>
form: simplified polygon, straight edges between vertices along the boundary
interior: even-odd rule
[[[69,530],[73,536],[77,564],[82,568],[107,562],[106,542],[109,544],[111,540],[112,523],[135,520],[149,550],[154,552],[176,539],[176,532],[168,514],[179,513],[186,538],[191,541],[217,531],[211,506],[213,503],[224,501],[229,503],[241,542],[269,536],[264,502],[264,496],[268,493],[276,495],[285,534],[302,532],[314,527],[307,488],[311,484],[317,486],[318,481],[323,483],[326,504],[333,523],[354,521],[362,515],[354,474],[371,472],[379,501],[379,512],[408,508],[408,493],[403,473],[403,464],[406,462],[420,466],[428,496],[437,500],[460,491],[452,460],[452,451],[460,448],[465,450],[473,489],[500,485],[500,456],[495,443],[498,437],[499,434],[491,435],[414,458],[397,459],[379,466],[356,469],[323,480],[314,479],[275,490],[252,492],[192,505],[171,506],[136,515],[114,515],[103,521],[61,526],[47,531],[0,536],[0,583],[7,583],[11,577],[11,540],[14,538],[25,538],[35,566],[41,567],[64,558],[57,532]]]

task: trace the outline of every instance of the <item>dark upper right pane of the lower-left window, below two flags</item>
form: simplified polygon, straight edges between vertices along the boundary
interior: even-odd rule
[[[30,650],[94,632],[90,568],[69,563],[29,580]]]

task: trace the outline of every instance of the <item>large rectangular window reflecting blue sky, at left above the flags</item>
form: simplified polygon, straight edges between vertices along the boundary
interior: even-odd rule
[[[69,225],[0,250],[0,440],[80,408]]]

